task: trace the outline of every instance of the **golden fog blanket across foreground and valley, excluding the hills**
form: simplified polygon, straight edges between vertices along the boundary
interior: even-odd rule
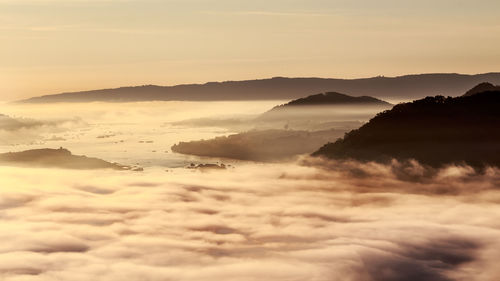
[[[170,151],[239,132],[173,122],[253,119],[279,103],[0,106],[25,124],[0,129],[0,152],[62,146],[145,168],[0,166],[0,279],[500,278],[498,169],[302,157],[200,171],[184,166],[218,159]]]

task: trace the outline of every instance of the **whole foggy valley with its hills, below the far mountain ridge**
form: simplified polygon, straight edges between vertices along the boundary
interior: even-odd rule
[[[424,97],[4,103],[0,279],[495,280],[500,91]]]

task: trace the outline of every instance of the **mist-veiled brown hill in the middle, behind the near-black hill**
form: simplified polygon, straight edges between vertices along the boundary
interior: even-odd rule
[[[312,153],[390,107],[391,104],[372,97],[328,92],[275,106],[254,119],[176,122],[174,125],[177,126],[221,124],[243,132],[209,140],[180,142],[172,146],[172,151],[240,160],[282,161]]]

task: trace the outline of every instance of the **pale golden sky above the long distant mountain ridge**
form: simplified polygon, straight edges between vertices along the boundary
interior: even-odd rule
[[[500,70],[498,0],[0,0],[0,100]]]

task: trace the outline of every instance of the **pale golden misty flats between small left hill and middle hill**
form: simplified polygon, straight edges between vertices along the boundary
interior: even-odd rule
[[[237,131],[217,124],[195,127],[175,122],[192,118],[253,118],[277,103],[280,101],[0,105],[0,114],[18,124],[8,129],[0,127],[0,152],[62,146],[74,154],[121,164],[184,166],[196,159],[172,154],[170,147],[175,143]],[[0,125],[1,120],[0,116]]]

